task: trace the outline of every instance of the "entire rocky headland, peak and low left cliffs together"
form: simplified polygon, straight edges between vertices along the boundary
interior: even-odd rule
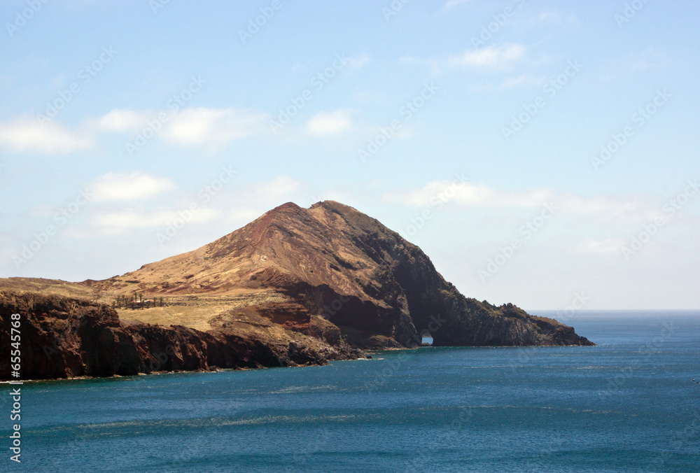
[[[102,281],[1,279],[0,351],[13,313],[24,317],[32,379],[319,365],[423,336],[435,346],[593,345],[556,320],[464,297],[420,248],[332,201],[283,204]],[[9,374],[0,364],[0,379]]]

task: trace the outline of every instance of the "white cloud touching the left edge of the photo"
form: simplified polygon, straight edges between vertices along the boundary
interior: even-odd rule
[[[0,123],[0,146],[19,153],[72,153],[92,147],[92,136],[73,132],[55,122],[18,118]]]

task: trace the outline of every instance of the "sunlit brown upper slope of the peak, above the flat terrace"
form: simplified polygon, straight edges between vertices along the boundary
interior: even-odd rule
[[[374,232],[387,232],[377,220],[335,202],[311,209],[288,203],[202,248],[104,282],[111,291],[124,294],[228,294],[243,288],[262,290],[265,285],[255,276],[267,270],[266,275],[362,296],[358,280],[372,283],[379,264],[353,242],[357,230],[337,213],[339,207],[345,216],[356,213],[352,217],[358,222],[364,217],[365,226],[375,227]]]

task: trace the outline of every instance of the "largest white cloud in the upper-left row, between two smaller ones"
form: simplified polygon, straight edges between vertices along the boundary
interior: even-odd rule
[[[262,113],[235,108],[186,108],[172,117],[162,132],[166,139],[192,145],[225,143],[265,129]]]

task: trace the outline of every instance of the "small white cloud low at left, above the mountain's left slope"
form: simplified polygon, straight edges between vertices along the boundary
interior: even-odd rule
[[[94,200],[99,202],[145,199],[175,186],[170,179],[135,171],[132,174],[110,172],[95,179],[90,187]]]

